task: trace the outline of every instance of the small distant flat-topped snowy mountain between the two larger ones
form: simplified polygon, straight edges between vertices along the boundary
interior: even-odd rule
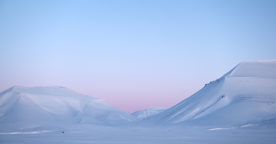
[[[131,115],[133,115],[139,119],[145,119],[148,116],[153,116],[153,115],[159,114],[160,112],[163,112],[165,109],[167,109],[167,107],[148,107],[145,110],[136,111],[136,112],[132,113]]]

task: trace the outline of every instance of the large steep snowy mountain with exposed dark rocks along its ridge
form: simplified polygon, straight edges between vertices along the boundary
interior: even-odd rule
[[[243,61],[221,78],[153,116],[156,124],[254,124],[276,117],[276,60]]]

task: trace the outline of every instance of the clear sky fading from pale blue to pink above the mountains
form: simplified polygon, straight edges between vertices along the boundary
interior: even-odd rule
[[[63,86],[128,113],[276,58],[276,1],[0,1],[0,91]]]

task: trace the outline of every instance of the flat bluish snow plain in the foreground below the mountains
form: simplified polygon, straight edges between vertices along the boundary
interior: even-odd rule
[[[1,133],[8,143],[117,143],[117,144],[275,144],[275,127],[258,125],[209,130],[219,127],[110,127],[98,125],[47,126]],[[209,130],[209,131],[208,131]],[[64,132],[64,133],[63,133]],[[13,133],[13,134],[8,134]],[[20,134],[19,134],[20,133]]]

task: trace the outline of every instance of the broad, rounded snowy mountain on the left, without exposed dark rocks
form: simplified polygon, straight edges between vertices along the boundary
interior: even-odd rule
[[[14,86],[0,93],[0,124],[31,128],[47,124],[115,125],[139,119],[102,99],[59,86]]]

